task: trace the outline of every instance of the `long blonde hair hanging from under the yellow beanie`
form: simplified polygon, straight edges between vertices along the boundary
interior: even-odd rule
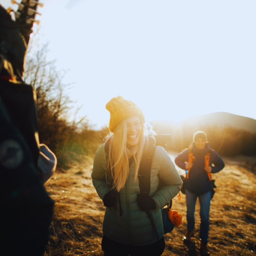
[[[136,182],[138,178],[139,165],[142,158],[143,147],[148,145],[147,130],[143,122],[140,120],[142,126],[142,132],[138,141],[138,151],[136,155],[133,155],[136,165],[135,165],[135,178]],[[113,188],[117,189],[119,192],[129,176],[129,158],[126,151],[127,142],[127,124],[126,119],[121,120],[115,127],[113,134],[111,133],[107,138],[105,143],[109,144],[109,155],[107,157],[110,166],[111,175],[114,180]]]

